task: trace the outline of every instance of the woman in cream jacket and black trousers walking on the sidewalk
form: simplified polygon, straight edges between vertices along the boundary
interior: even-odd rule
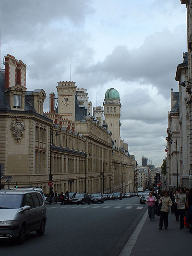
[[[172,201],[168,196],[167,191],[164,191],[164,195],[159,199],[159,204],[161,204],[159,230],[162,230],[163,222],[164,222],[165,229],[168,229],[168,213],[169,213],[169,207],[172,206]]]

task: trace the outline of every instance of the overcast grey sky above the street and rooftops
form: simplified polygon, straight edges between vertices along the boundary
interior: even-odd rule
[[[121,137],[138,164],[165,158],[170,89],[187,50],[180,0],[1,0],[1,56],[27,64],[27,89],[70,79],[93,106],[121,98]],[[48,98],[45,104],[48,110]]]

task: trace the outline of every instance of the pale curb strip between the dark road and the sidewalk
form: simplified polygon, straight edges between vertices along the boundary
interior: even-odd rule
[[[130,239],[128,240],[127,244],[125,244],[124,248],[122,249],[120,256],[130,256],[132,252],[133,246],[137,242],[137,238],[142,230],[142,227],[144,225],[145,220],[147,219],[148,216],[148,210],[145,211],[144,216],[142,219],[139,221],[139,224],[137,225],[136,229],[132,233]]]

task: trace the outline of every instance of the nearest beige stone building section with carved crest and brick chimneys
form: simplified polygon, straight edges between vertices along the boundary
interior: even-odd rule
[[[43,114],[43,89],[27,91],[26,65],[12,55],[5,56],[0,70],[0,164],[3,175],[12,176],[4,188],[45,186],[49,180],[50,128]],[[9,180],[9,179],[8,179]]]

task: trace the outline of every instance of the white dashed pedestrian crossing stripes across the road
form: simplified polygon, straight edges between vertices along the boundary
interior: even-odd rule
[[[103,209],[108,209],[108,208],[113,208],[113,209],[132,209],[132,208],[136,208],[137,210],[142,210],[143,208],[145,208],[145,207],[143,207],[143,206],[138,206],[138,207],[136,207],[136,206],[126,206],[126,205],[124,205],[124,206],[115,206],[115,205],[110,205],[110,206],[95,206],[95,205],[91,205],[91,206],[54,206],[54,207],[51,207],[51,206],[47,206],[46,207],[47,209],[55,209],[55,208],[60,208],[60,209],[68,209],[68,208],[70,208],[70,209],[73,209],[73,208],[94,208],[94,209],[96,209],[96,208],[103,208]]]

